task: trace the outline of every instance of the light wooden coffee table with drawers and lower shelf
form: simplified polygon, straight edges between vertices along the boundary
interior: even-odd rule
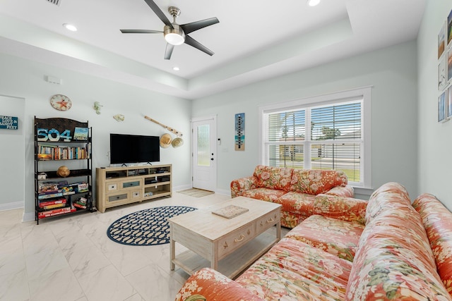
[[[212,214],[228,205],[249,211],[232,219]],[[170,268],[174,270],[177,264],[191,275],[210,266],[234,278],[280,240],[280,210],[280,204],[236,197],[168,219],[171,227]],[[276,226],[275,231],[270,231],[273,226]],[[189,250],[176,257],[175,242]]]

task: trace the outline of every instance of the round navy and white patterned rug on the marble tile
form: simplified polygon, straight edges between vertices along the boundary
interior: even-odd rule
[[[114,242],[123,245],[162,245],[169,243],[167,219],[194,211],[196,208],[165,206],[136,211],[114,221],[107,235]]]

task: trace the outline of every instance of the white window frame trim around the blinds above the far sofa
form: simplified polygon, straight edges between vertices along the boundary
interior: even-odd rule
[[[350,185],[357,188],[371,188],[371,87],[361,87],[354,90],[335,92],[331,94],[323,94],[316,97],[307,97],[303,99],[295,99],[288,102],[278,102],[258,107],[259,118],[259,158],[260,164],[266,164],[266,113],[278,111],[291,111],[295,109],[304,109],[307,107],[332,105],[340,102],[347,102],[350,99],[362,97],[362,157],[361,157],[361,174],[362,182],[349,182]],[[306,125],[306,133],[309,132],[310,124]],[[305,163],[305,168],[309,168],[309,163]]]

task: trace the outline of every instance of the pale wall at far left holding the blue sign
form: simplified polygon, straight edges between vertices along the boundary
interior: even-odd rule
[[[0,95],[0,115],[18,118],[18,129],[0,129],[0,210],[22,208],[24,201],[25,99]]]

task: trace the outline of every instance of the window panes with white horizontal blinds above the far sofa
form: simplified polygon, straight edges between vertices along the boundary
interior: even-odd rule
[[[282,108],[283,109],[283,108]],[[363,183],[363,97],[263,111],[263,164],[344,171]]]

